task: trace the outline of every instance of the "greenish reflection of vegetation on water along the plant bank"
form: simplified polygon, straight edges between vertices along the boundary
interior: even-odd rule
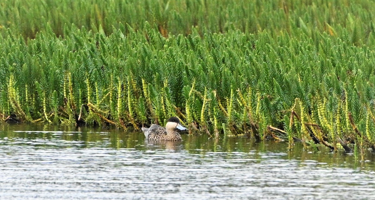
[[[75,129],[72,127],[56,126],[2,126],[0,132],[0,145],[27,145],[35,148],[113,148],[113,149],[136,149],[137,151],[162,150],[168,149],[176,152],[185,152],[189,154],[200,154],[202,157],[216,156],[233,158],[236,155],[245,156],[260,163],[266,157],[275,157],[287,160],[301,161],[302,166],[327,166],[327,167],[351,167],[356,169],[372,169],[375,163],[374,154],[364,155],[364,159],[370,162],[357,162],[354,154],[345,154],[344,152],[330,152],[327,148],[321,148],[320,151],[304,151],[301,142],[296,142],[296,148],[287,151],[288,144],[279,141],[257,142],[254,139],[246,137],[225,137],[215,140],[208,140],[207,135],[188,136],[183,135],[182,142],[146,142],[141,133],[124,133],[119,130],[102,130],[81,127]],[[15,130],[30,130],[36,132],[14,132]],[[39,132],[37,132],[39,130]],[[45,132],[40,132],[43,130]],[[62,132],[60,132],[62,131]],[[123,142],[122,142],[123,141]],[[120,153],[121,151],[119,151]],[[213,154],[213,152],[216,152]],[[222,152],[222,153],[220,153]],[[152,153],[152,151],[151,151]]]

